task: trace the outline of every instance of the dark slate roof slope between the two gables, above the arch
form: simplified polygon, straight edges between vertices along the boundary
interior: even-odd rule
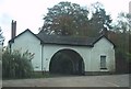
[[[37,34],[37,36],[45,44],[93,46],[93,43],[96,41],[96,37],[58,36],[58,35],[46,35],[43,33]]]

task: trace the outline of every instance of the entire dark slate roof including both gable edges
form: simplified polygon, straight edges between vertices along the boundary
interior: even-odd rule
[[[74,45],[74,46],[91,46],[91,47],[93,47],[97,41],[99,41],[102,37],[106,37],[104,35],[100,35],[98,37],[57,36],[57,35],[46,35],[46,34],[43,34],[43,32],[39,32],[38,34],[34,34],[32,31],[29,31],[27,29],[23,33],[21,33],[17,36],[15,36],[14,38],[10,40],[9,43],[13,42],[16,37],[21,36],[22,34],[24,34],[27,31],[31,32],[34,36],[36,36],[41,42],[41,44]],[[108,40],[108,41],[115,46],[115,44],[110,40]]]

